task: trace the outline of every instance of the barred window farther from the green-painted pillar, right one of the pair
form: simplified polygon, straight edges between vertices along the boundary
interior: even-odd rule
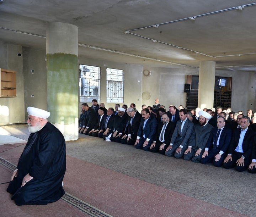
[[[123,70],[107,68],[106,102],[123,102],[123,78]]]

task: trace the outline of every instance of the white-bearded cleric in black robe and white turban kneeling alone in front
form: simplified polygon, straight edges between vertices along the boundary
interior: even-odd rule
[[[62,133],[47,121],[50,112],[28,107],[27,144],[11,177],[7,192],[16,205],[42,204],[59,200],[66,171],[66,147]]]

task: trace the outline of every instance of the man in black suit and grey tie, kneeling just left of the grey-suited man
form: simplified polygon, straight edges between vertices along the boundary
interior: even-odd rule
[[[166,113],[162,115],[162,121],[158,124],[158,130],[155,134],[153,143],[150,146],[151,152],[160,152],[165,154],[168,144],[171,142],[171,137],[175,129],[175,124],[170,121]],[[167,145],[166,145],[167,144]]]

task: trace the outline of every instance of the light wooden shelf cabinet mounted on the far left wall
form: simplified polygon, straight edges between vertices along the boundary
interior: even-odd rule
[[[16,96],[16,72],[0,69],[0,97],[15,97]]]

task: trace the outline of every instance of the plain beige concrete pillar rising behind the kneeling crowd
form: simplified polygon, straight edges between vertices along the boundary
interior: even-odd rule
[[[215,85],[214,61],[201,61],[199,68],[198,107],[210,109],[213,107]]]

